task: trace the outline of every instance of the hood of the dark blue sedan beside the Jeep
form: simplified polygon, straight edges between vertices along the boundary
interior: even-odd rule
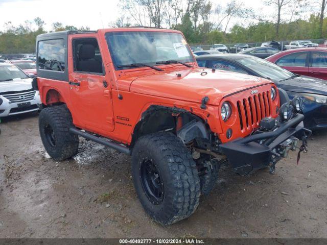
[[[327,81],[318,78],[299,76],[276,84],[286,91],[327,95]]]

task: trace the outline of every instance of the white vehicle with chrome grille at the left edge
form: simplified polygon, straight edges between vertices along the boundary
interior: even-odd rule
[[[39,91],[32,78],[10,63],[0,63],[0,117],[39,110]]]

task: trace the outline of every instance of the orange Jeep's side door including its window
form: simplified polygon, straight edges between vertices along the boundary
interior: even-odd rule
[[[107,135],[113,131],[111,89],[96,34],[68,39],[69,91],[75,125]],[[75,121],[76,120],[76,121]]]

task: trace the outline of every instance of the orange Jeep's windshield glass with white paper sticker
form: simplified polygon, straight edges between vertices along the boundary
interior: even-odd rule
[[[116,70],[128,64],[176,60],[194,62],[189,45],[179,33],[171,32],[108,32],[106,39]]]

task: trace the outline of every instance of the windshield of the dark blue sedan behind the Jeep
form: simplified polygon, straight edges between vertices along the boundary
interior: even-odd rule
[[[269,78],[274,82],[279,82],[294,76],[292,72],[257,57],[246,57],[238,61],[263,78]]]

